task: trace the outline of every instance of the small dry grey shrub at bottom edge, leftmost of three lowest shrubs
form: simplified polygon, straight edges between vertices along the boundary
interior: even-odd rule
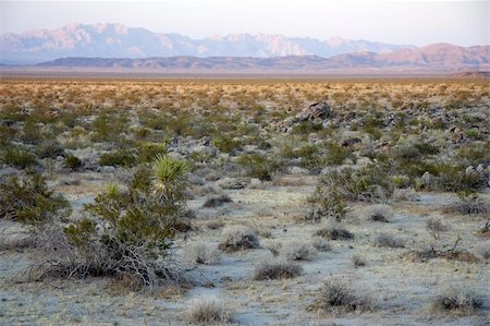
[[[216,325],[232,324],[232,314],[223,303],[213,298],[199,298],[191,302],[185,311],[184,319],[192,324]]]

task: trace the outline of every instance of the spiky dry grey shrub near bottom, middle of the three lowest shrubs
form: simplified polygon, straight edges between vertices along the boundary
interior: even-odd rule
[[[327,280],[319,290],[318,300],[313,309],[321,309],[327,312],[348,313],[354,311],[372,311],[372,299],[357,294],[354,288],[347,287],[340,280]]]

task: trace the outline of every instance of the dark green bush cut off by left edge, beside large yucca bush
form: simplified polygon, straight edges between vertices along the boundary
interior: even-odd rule
[[[21,173],[0,178],[0,219],[39,225],[65,219],[70,214],[70,203],[49,190],[41,176]]]

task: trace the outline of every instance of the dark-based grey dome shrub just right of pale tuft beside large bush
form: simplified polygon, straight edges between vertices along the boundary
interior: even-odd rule
[[[225,252],[235,252],[260,247],[256,233],[243,226],[226,227],[221,232],[221,243],[218,246]]]

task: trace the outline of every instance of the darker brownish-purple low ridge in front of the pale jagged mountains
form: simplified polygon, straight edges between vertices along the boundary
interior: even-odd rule
[[[458,47],[436,44],[391,53],[355,52],[331,58],[318,56],[163,57],[163,58],[61,58],[37,64],[45,68],[151,69],[168,71],[327,71],[341,69],[490,70],[490,46]]]

